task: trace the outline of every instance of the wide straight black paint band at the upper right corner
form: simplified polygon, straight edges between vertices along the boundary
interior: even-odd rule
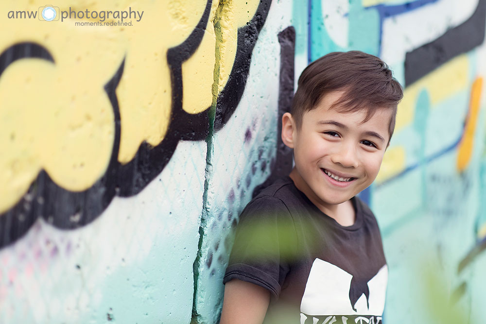
[[[451,58],[483,44],[486,24],[486,0],[479,0],[476,10],[465,22],[448,30],[434,41],[405,55],[405,85],[440,67]]]

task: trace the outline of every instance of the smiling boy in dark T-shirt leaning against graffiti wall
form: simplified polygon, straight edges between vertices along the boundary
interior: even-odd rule
[[[386,64],[360,51],[304,69],[282,117],[295,167],[243,210],[222,324],[381,323],[382,239],[356,194],[378,174],[402,96]]]

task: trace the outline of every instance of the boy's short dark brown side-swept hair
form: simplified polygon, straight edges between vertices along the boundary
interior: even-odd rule
[[[376,109],[391,109],[388,133],[392,137],[403,90],[379,57],[362,51],[332,52],[309,64],[300,75],[292,101],[291,114],[297,130],[302,126],[304,113],[332,91],[344,92],[331,108],[343,113],[364,109],[363,122],[371,119]]]

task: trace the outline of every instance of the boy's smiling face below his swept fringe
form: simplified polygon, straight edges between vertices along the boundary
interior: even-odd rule
[[[324,96],[315,109],[304,113],[300,130],[294,125],[292,132],[291,176],[314,204],[324,208],[344,203],[371,185],[389,141],[390,110],[377,109],[363,122],[364,111],[329,109],[340,95]]]

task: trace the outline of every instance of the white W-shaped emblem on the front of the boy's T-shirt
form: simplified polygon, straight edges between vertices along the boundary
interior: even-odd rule
[[[385,304],[388,267],[382,269],[368,282],[369,309],[363,294],[351,307],[349,288],[352,275],[343,269],[316,258],[307,280],[300,311],[308,315],[378,315]]]

